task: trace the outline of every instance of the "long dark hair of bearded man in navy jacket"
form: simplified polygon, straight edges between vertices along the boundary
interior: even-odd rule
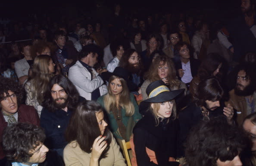
[[[56,108],[54,105],[54,100],[51,95],[51,89],[53,85],[57,84],[64,89],[66,94],[68,95],[68,108],[74,110],[79,103],[79,94],[76,90],[75,86],[63,75],[55,75],[49,82],[45,92],[44,92],[44,101],[42,106],[46,107],[49,111],[54,112],[59,108]]]

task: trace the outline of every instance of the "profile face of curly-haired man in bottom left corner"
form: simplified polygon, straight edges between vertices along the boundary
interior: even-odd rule
[[[40,142],[40,145],[38,145],[34,149],[29,150],[29,153],[33,155],[29,157],[26,163],[23,164],[32,165],[34,163],[43,163],[46,159],[46,154],[48,151],[49,149],[42,142]]]

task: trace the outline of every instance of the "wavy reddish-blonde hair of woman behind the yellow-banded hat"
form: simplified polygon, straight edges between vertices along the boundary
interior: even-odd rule
[[[161,78],[158,75],[158,67],[160,63],[165,64],[169,68],[168,79],[169,79],[169,88],[179,87],[179,81],[176,79],[176,69],[172,59],[166,55],[160,55],[150,65],[148,72],[145,75],[146,79],[149,79],[150,82],[160,80]]]

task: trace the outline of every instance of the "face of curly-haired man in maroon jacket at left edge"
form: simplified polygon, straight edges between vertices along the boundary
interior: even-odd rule
[[[0,102],[2,107],[2,112],[4,112],[7,115],[13,115],[18,110],[18,101],[16,94],[12,91],[8,91],[8,96],[6,96],[6,93],[3,94],[3,100]]]

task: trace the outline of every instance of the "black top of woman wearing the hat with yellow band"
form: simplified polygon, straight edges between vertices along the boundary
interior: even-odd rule
[[[165,119],[167,120],[167,119]],[[134,127],[134,149],[138,166],[156,166],[150,162],[146,147],[154,151],[159,166],[172,166],[176,162],[169,162],[169,157],[176,157],[178,136],[178,120],[159,121],[152,114],[145,115]]]

